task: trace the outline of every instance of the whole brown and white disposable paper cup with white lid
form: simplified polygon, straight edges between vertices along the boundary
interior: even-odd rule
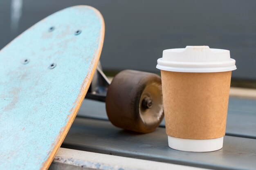
[[[209,152],[223,146],[231,71],[228,50],[209,46],[168,49],[157,60],[161,70],[169,147]]]

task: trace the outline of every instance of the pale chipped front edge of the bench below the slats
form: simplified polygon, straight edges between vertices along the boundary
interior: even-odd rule
[[[189,166],[60,148],[49,170],[206,170]]]

